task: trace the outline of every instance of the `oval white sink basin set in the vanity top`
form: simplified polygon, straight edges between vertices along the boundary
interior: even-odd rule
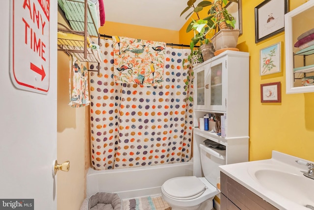
[[[266,190],[302,206],[314,206],[314,180],[305,177],[298,168],[259,164],[248,168],[248,172]]]

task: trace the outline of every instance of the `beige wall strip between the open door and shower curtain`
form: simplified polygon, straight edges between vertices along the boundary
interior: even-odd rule
[[[58,22],[66,25],[58,14]],[[86,196],[86,124],[89,126],[85,110],[88,107],[72,108],[69,99],[69,56],[58,52],[57,87],[57,160],[58,163],[70,161],[69,172],[57,174],[57,209],[78,210]],[[87,143],[87,144],[86,144]],[[88,150],[88,149],[87,149]]]

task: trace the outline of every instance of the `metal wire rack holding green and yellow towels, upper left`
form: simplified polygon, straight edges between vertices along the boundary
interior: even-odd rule
[[[75,55],[82,62],[102,62],[99,49],[91,49],[91,36],[99,38],[95,4],[88,0],[58,0],[58,11],[71,28],[58,25],[58,51]]]

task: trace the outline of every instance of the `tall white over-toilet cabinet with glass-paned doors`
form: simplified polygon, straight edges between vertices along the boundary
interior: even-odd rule
[[[226,164],[248,161],[249,53],[225,51],[194,70],[194,175],[201,176],[199,144],[205,139],[226,146]],[[199,118],[226,114],[225,137],[202,131]]]

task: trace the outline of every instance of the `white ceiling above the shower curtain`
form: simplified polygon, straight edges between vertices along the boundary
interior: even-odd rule
[[[197,0],[199,2],[201,0]],[[180,17],[187,0],[104,0],[105,20],[179,31],[185,24]],[[196,4],[194,4],[196,5]]]

